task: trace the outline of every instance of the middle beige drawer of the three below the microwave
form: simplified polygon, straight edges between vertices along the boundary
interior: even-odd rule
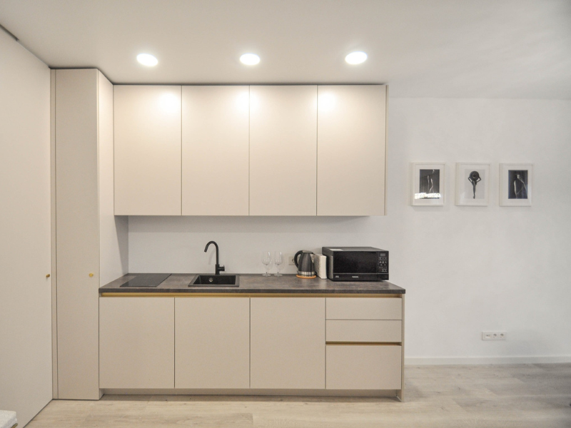
[[[398,320],[327,320],[327,342],[400,342],[403,322]]]

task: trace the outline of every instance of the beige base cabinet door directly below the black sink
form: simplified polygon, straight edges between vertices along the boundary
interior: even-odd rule
[[[250,299],[176,297],[175,387],[250,387]]]

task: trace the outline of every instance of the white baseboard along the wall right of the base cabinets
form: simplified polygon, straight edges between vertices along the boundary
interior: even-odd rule
[[[537,357],[405,357],[405,365],[551,364],[571,362],[571,355]]]

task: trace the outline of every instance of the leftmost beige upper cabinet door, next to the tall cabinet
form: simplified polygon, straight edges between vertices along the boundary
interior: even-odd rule
[[[115,215],[181,215],[181,86],[113,92]]]

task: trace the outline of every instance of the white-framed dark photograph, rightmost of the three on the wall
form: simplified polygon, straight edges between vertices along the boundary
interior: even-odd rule
[[[500,205],[531,206],[532,163],[500,163]]]

